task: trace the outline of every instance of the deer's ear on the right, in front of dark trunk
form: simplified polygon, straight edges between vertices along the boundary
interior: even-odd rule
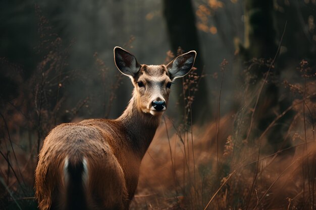
[[[196,52],[194,50],[179,55],[167,65],[170,79],[174,80],[188,74],[194,65]]]

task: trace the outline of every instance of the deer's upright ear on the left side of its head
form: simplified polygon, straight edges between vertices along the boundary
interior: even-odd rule
[[[139,71],[136,57],[121,47],[114,47],[114,61],[123,75],[135,77]]]

